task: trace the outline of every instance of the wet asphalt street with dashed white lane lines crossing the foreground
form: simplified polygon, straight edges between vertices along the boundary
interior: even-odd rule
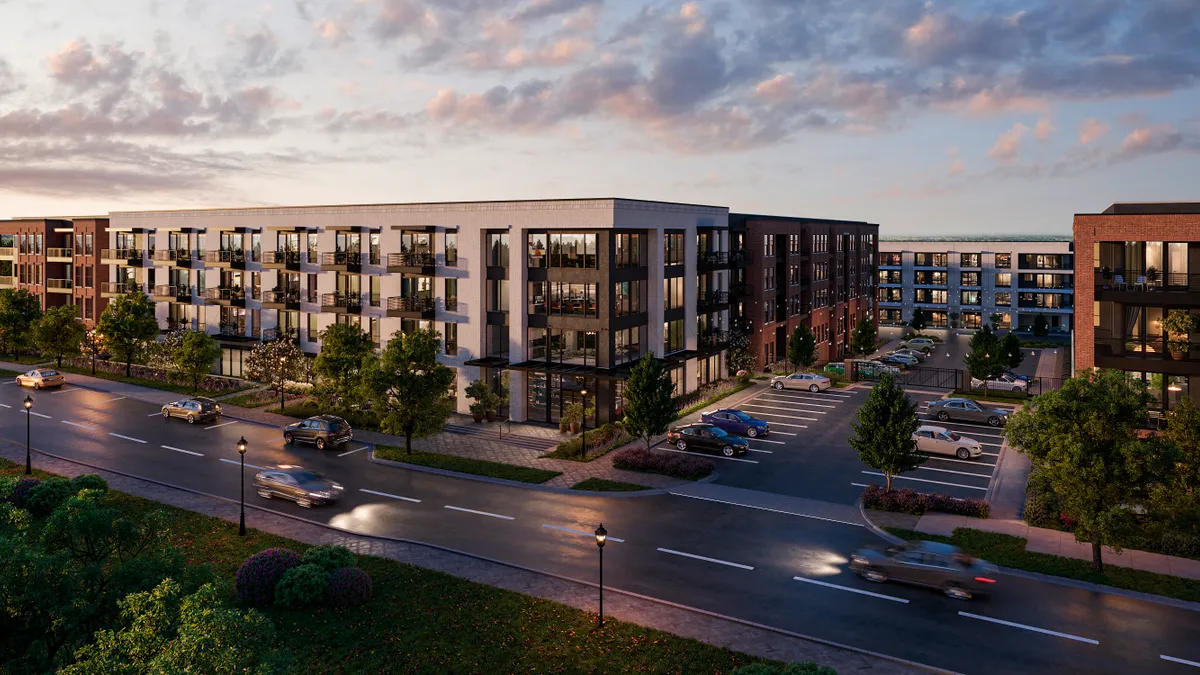
[[[28,393],[0,386],[0,436],[24,442]],[[878,540],[852,521],[678,495],[524,490],[383,467],[360,444],[325,453],[286,447],[277,429],[245,422],[167,420],[150,404],[73,386],[31,395],[36,448],[236,498],[235,446],[244,436],[248,467],[302,464],[347,488],[336,506],[311,510],[253,491],[250,500],[360,533],[593,579],[589,533],[602,521],[612,587],[972,675],[1200,673],[1200,614],[1015,577],[1001,579],[994,598],[973,603],[869,584],[846,572],[846,556]],[[775,471],[746,465],[754,466]],[[253,512],[248,516],[253,526]]]

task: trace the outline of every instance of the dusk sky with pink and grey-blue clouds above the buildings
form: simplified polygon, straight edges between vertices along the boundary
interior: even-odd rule
[[[1067,234],[1198,175],[1200,0],[0,0],[0,217],[628,197]]]

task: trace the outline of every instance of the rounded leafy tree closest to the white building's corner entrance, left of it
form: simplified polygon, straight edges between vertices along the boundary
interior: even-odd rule
[[[438,363],[440,345],[437,330],[397,330],[378,359],[364,362],[364,398],[379,417],[379,429],[404,436],[407,454],[413,438],[442,431],[454,412],[455,374]]]

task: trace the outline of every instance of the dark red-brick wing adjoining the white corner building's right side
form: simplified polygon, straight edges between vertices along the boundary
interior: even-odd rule
[[[730,215],[731,321],[748,330],[756,366],[786,360],[802,324],[818,359],[844,358],[854,324],[877,321],[874,280],[880,226],[860,221]]]

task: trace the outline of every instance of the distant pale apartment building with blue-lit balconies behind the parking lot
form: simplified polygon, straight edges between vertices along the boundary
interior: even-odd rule
[[[934,328],[1033,328],[1069,333],[1074,313],[1070,240],[884,239],[880,241],[881,325],[901,325],[922,307]]]

